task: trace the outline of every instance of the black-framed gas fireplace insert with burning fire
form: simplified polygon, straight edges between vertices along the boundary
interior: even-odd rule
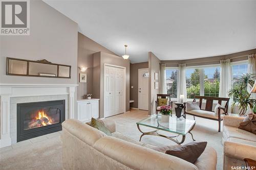
[[[62,130],[65,100],[17,104],[17,142]]]

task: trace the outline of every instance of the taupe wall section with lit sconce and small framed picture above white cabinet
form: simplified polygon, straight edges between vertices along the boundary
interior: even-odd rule
[[[77,67],[87,67],[87,70],[82,72],[77,68],[77,99],[86,98],[86,94],[93,92],[93,54],[96,52],[104,52],[115,55],[112,51],[93,41],[92,39],[78,33],[78,54]],[[79,74],[87,74],[87,83],[79,83]]]

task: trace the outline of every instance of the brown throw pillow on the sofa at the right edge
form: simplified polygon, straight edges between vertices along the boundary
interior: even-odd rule
[[[256,114],[249,113],[238,128],[256,135]]]

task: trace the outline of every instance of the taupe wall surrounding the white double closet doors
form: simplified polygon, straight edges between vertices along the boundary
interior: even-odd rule
[[[126,111],[130,110],[130,60],[124,60],[122,57],[98,52],[94,54],[93,62],[93,94],[99,98],[99,115],[104,117],[104,64],[112,64],[126,68]]]

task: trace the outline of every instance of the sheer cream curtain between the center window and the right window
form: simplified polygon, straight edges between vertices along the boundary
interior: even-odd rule
[[[228,90],[231,88],[231,65],[230,59],[221,60],[221,77],[220,77],[220,98],[229,98]],[[229,99],[228,112],[231,112],[232,98]]]

